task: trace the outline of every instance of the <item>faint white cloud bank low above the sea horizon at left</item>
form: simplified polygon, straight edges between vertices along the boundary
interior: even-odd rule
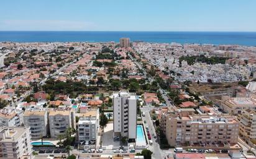
[[[96,30],[92,22],[75,20],[3,20],[0,30],[28,30],[28,31],[83,31]]]

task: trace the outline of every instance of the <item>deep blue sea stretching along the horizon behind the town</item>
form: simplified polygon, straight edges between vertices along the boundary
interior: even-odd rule
[[[118,42],[128,37],[130,41],[151,43],[198,43],[213,45],[256,46],[256,32],[28,32],[0,31],[0,41],[12,42]]]

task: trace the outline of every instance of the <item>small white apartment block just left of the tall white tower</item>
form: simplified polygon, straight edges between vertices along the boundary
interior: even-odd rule
[[[79,114],[78,140],[80,144],[95,143],[99,129],[99,111],[91,110]]]

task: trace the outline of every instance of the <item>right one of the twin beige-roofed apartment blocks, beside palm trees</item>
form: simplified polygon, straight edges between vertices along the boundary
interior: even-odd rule
[[[64,135],[66,129],[75,127],[75,112],[73,110],[51,110],[49,111],[50,135],[57,138],[58,135]]]

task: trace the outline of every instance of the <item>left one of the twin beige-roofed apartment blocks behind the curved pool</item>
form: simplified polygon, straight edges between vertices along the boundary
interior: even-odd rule
[[[24,125],[30,127],[32,139],[40,139],[47,136],[48,118],[47,111],[25,111]]]

